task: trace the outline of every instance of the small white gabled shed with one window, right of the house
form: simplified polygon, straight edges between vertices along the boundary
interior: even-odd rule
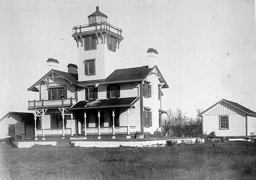
[[[256,113],[244,106],[221,99],[198,114],[202,117],[202,131],[214,131],[220,137],[246,137],[256,132]]]

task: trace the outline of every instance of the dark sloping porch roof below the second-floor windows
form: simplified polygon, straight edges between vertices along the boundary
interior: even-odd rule
[[[79,101],[70,110],[95,109],[95,108],[116,108],[133,106],[139,97],[97,99],[95,101]]]

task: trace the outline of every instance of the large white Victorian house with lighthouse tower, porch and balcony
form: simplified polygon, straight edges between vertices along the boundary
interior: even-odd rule
[[[58,60],[48,59],[51,70],[28,88],[39,94],[39,99],[28,103],[34,114],[35,139],[129,138],[135,132],[161,129],[161,90],[168,85],[157,66],[110,71],[124,38],[107,18],[97,6],[88,16],[88,25],[74,26],[78,64],[68,64],[63,72],[55,69]],[[147,53],[157,59],[155,49]]]

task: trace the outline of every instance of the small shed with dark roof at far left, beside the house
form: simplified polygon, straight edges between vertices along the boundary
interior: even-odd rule
[[[33,139],[33,113],[9,112],[0,119],[0,139],[19,137],[20,140]]]

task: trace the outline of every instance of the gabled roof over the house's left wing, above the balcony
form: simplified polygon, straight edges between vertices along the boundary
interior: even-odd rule
[[[74,78],[73,75],[69,74],[68,72],[63,72],[63,71],[53,70],[52,69],[49,72],[47,72],[47,74],[45,74],[41,79],[39,79],[39,81],[37,81],[35,84],[33,84],[31,87],[29,87],[28,91],[39,91],[39,90],[37,90],[37,88],[35,86],[40,85],[40,83],[43,81],[43,79],[47,78],[47,76],[49,74],[51,74],[52,72],[55,72],[59,76],[62,76],[62,78],[66,79],[66,81],[69,81],[72,84],[74,84],[76,86],[79,86],[78,85],[78,80],[76,78]]]

